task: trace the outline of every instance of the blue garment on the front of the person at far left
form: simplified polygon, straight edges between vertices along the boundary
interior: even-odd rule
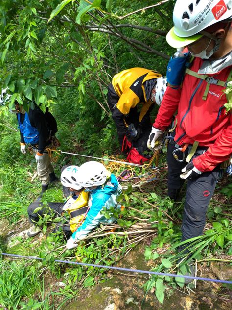
[[[30,123],[29,116],[25,112],[23,123],[20,121],[20,113],[17,113],[20,132],[23,134],[25,143],[37,144],[39,142],[39,131]]]

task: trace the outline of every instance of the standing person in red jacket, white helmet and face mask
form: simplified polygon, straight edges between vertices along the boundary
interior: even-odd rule
[[[167,151],[168,196],[175,200],[187,180],[182,241],[203,233],[220,164],[232,153],[232,113],[226,112],[223,92],[232,80],[229,2],[177,0],[174,27],[166,36],[169,45],[187,47],[195,56],[182,84],[167,87],[147,142],[150,149],[162,148],[164,131],[177,111]]]

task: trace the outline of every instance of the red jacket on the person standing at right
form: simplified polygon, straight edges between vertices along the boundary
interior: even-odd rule
[[[203,60],[195,58],[191,70],[197,72]],[[217,72],[213,78],[226,81],[232,66]],[[193,159],[194,166],[204,172],[213,170],[218,164],[227,160],[232,153],[232,114],[226,114],[224,104],[225,87],[210,84],[206,100],[203,94],[207,82],[200,78],[185,74],[182,87],[173,89],[167,87],[161,107],[153,126],[165,130],[172,121],[172,116],[178,110],[176,119],[177,144],[193,144],[209,147],[208,150]]]

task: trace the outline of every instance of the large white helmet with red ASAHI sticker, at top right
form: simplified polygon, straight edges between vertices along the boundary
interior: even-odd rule
[[[231,0],[177,0],[167,43],[174,48],[184,47],[200,39],[205,28],[231,17]]]

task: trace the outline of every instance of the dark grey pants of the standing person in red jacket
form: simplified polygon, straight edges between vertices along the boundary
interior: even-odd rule
[[[169,142],[167,148],[168,163],[168,196],[176,198],[176,194],[184,184],[180,178],[181,169],[187,162],[178,162],[172,154],[176,149],[175,143]],[[198,148],[193,158],[202,154],[201,148]],[[187,155],[187,154],[186,154]],[[182,241],[202,235],[206,222],[206,212],[209,201],[214,193],[216,181],[219,177],[220,167],[213,171],[203,172],[196,179],[187,180],[186,200],[184,207],[184,216],[182,221]]]

